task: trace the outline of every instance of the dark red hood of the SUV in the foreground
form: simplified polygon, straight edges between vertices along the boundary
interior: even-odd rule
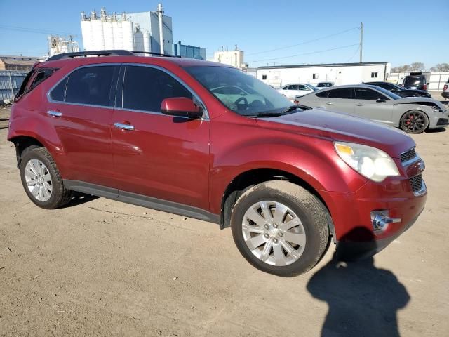
[[[265,128],[283,129],[304,136],[377,147],[396,158],[415,146],[415,141],[397,128],[370,119],[319,108],[279,117],[258,118],[257,123]]]

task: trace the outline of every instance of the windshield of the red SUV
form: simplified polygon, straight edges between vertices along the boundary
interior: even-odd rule
[[[201,66],[185,70],[237,114],[269,117],[296,110],[290,109],[290,100],[274,88],[236,68]]]

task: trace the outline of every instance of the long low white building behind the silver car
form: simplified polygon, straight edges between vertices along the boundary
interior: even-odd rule
[[[322,65],[273,65],[258,67],[256,77],[274,87],[286,84],[334,82],[335,85],[386,81],[389,62],[329,63]]]

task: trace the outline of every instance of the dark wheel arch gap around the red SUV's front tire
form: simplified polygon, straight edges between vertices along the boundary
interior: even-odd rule
[[[296,176],[293,173],[283,171],[281,169],[270,168],[250,169],[248,171],[241,172],[238,176],[232,179],[229,185],[227,185],[221,202],[220,229],[230,227],[232,209],[240,195],[248,190],[248,188],[269,180],[286,180],[290,183],[294,183],[295,185],[299,185],[311,194],[314,194],[314,196],[317,197],[328,210],[329,223],[331,224],[329,232],[333,237],[335,237],[335,227],[333,225],[332,217],[330,216],[330,209],[323,196],[319,193],[319,190],[316,190],[316,188],[310,185],[310,183],[306,180]]]

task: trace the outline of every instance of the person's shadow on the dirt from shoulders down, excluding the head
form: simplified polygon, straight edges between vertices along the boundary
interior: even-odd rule
[[[397,311],[410,296],[391,271],[375,267],[373,257],[346,263],[337,249],[307,290],[328,304],[322,337],[400,336]]]

